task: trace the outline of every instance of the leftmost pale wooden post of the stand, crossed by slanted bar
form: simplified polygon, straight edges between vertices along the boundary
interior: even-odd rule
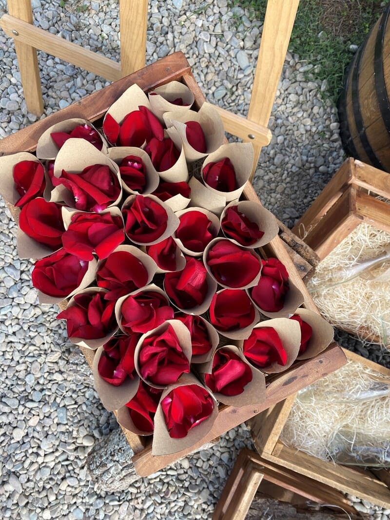
[[[33,23],[31,0],[8,0],[8,11],[15,18]],[[32,114],[42,115],[41,78],[36,50],[30,45],[17,42],[16,40],[15,50],[27,109]]]

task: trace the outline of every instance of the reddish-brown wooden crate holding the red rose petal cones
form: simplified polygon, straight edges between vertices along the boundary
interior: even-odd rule
[[[5,138],[0,141],[0,153],[8,154],[23,150],[34,152],[37,140],[41,134],[49,126],[64,119],[82,118],[91,122],[97,122],[96,124],[99,126],[102,121],[102,116],[106,113],[110,105],[132,84],[137,83],[145,92],[148,92],[159,85],[173,80],[181,81],[191,88],[196,99],[196,107],[199,109],[205,101],[205,98],[194,80],[189,64],[183,53],[178,52],[158,62],[152,63],[150,66],[126,76],[110,86],[101,89],[99,92],[73,103],[73,105],[50,115],[48,118],[38,121],[27,128],[23,128],[16,134]],[[255,191],[250,185],[245,188],[243,198],[256,201],[260,204]],[[13,211],[13,214],[17,216],[15,211]],[[304,294],[305,307],[318,312],[281,239],[276,237],[272,240],[271,243],[264,248],[263,254],[276,256],[287,266],[292,281]],[[83,349],[83,353],[89,365],[91,365],[94,352],[89,349]],[[199,448],[215,437],[222,435],[231,428],[250,419],[253,415],[265,410],[269,406],[275,405],[291,394],[295,394],[300,388],[340,368],[345,362],[346,359],[342,349],[335,343],[332,343],[325,352],[315,358],[294,363],[287,372],[267,378],[267,399],[263,404],[257,407],[245,406],[243,408],[221,406],[211,432],[190,449],[175,454],[153,457],[151,454],[150,437],[140,437],[124,430],[128,443],[135,453],[133,462],[137,473],[141,476],[148,476],[172,464],[181,457],[185,457],[194,449]]]

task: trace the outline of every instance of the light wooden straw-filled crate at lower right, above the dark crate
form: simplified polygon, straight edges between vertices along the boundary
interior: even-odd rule
[[[348,359],[366,365],[390,377],[390,370],[349,350]],[[295,396],[260,413],[250,421],[252,437],[258,453],[264,459],[296,473],[318,480],[324,485],[350,493],[384,508],[390,508],[390,474],[387,470],[368,471],[352,468],[312,457],[303,451],[284,446],[279,440]]]

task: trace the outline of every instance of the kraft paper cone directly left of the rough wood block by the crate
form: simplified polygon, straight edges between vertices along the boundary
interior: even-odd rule
[[[225,237],[231,238],[228,233],[225,233],[222,227],[222,220],[224,219],[227,210],[229,207],[237,206],[238,211],[242,213],[246,218],[248,218],[251,222],[257,224],[260,231],[264,232],[262,238],[256,240],[251,245],[242,245],[244,248],[255,249],[261,248],[263,245],[268,244],[273,238],[275,238],[279,233],[279,225],[275,216],[272,213],[265,209],[265,207],[257,204],[257,202],[253,202],[251,200],[242,200],[242,201],[232,201],[228,204],[222,215],[220,216],[221,221],[221,229],[224,233]]]

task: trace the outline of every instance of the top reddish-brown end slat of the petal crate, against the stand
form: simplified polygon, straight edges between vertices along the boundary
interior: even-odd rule
[[[145,69],[141,69],[131,76],[126,76],[112,85],[99,90],[99,92],[95,92],[59,112],[49,115],[42,121],[37,121],[19,130],[19,132],[1,139],[0,155],[20,151],[35,151],[38,139],[43,132],[64,119],[83,118],[91,122],[96,121],[107,112],[112,103],[123,94],[126,88],[134,83],[137,83],[144,90],[150,90],[169,81],[179,81],[181,76],[190,70],[188,61],[181,51],[170,54],[158,62],[145,67]]]

